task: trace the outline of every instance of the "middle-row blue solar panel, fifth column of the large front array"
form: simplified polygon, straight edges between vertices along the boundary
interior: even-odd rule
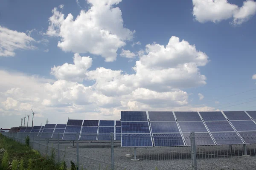
[[[252,120],[231,121],[237,131],[256,131],[256,124]]]

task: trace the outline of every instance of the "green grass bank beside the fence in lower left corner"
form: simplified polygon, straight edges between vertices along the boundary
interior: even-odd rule
[[[59,170],[60,166],[55,164],[53,157],[46,159],[37,150],[32,150],[24,144],[15,142],[2,134],[0,134],[0,149],[4,148],[3,159],[0,163],[0,170],[9,170],[10,162],[17,160],[19,164],[23,164],[24,170]],[[15,162],[16,163],[16,162]]]

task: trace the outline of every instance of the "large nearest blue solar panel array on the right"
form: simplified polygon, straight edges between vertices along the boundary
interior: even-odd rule
[[[192,131],[198,137],[196,145],[256,143],[255,120],[256,111],[122,111],[121,143],[122,147],[190,146]]]

